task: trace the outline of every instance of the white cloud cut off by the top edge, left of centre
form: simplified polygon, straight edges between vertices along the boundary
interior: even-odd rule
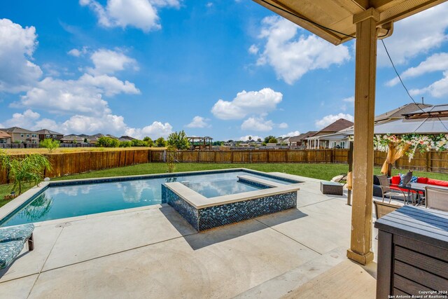
[[[108,0],[102,6],[95,0],[80,0],[81,6],[89,6],[104,27],[136,27],[144,32],[160,29],[157,7],[179,8],[179,0]]]

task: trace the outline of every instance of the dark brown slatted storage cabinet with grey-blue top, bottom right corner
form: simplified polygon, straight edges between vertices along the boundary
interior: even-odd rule
[[[443,296],[448,295],[447,212],[405,206],[379,218],[374,226],[379,230],[377,299],[447,298]]]

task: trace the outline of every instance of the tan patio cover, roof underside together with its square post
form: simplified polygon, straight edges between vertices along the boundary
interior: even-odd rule
[[[377,39],[391,36],[393,22],[446,0],[253,1],[335,45],[356,38],[353,207],[347,257],[370,263]]]

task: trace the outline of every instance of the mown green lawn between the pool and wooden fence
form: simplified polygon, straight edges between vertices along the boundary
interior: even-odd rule
[[[307,176],[314,179],[330,180],[333,176],[344,174],[348,171],[348,165],[342,164],[285,164],[285,163],[269,163],[269,164],[213,164],[213,163],[180,163],[176,164],[175,172],[188,172],[196,170],[211,170],[211,169],[227,169],[244,167],[248,169],[259,170],[261,172],[285,172],[287,174],[296,174],[299,176]],[[380,168],[374,169],[375,174],[379,174]],[[99,170],[97,172],[88,172],[86,174],[76,174],[72,176],[63,176],[52,179],[52,181],[67,180],[67,179],[90,179],[106,176],[130,176],[138,174],[160,174],[167,172],[167,165],[165,163],[148,163],[133,165],[128,167],[112,168]],[[393,169],[392,174],[398,172],[406,172],[406,170]],[[431,172],[414,172],[415,176],[426,176],[431,179],[441,179],[448,181],[448,174],[436,174]],[[6,204],[3,196],[7,195],[8,185],[0,186],[0,207]]]

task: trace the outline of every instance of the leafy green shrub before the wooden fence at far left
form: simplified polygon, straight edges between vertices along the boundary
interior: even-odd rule
[[[51,169],[51,164],[44,155],[34,153],[19,158],[0,150],[0,167],[8,173],[11,190],[20,195],[25,186],[40,183],[43,180],[43,171],[45,168]]]

